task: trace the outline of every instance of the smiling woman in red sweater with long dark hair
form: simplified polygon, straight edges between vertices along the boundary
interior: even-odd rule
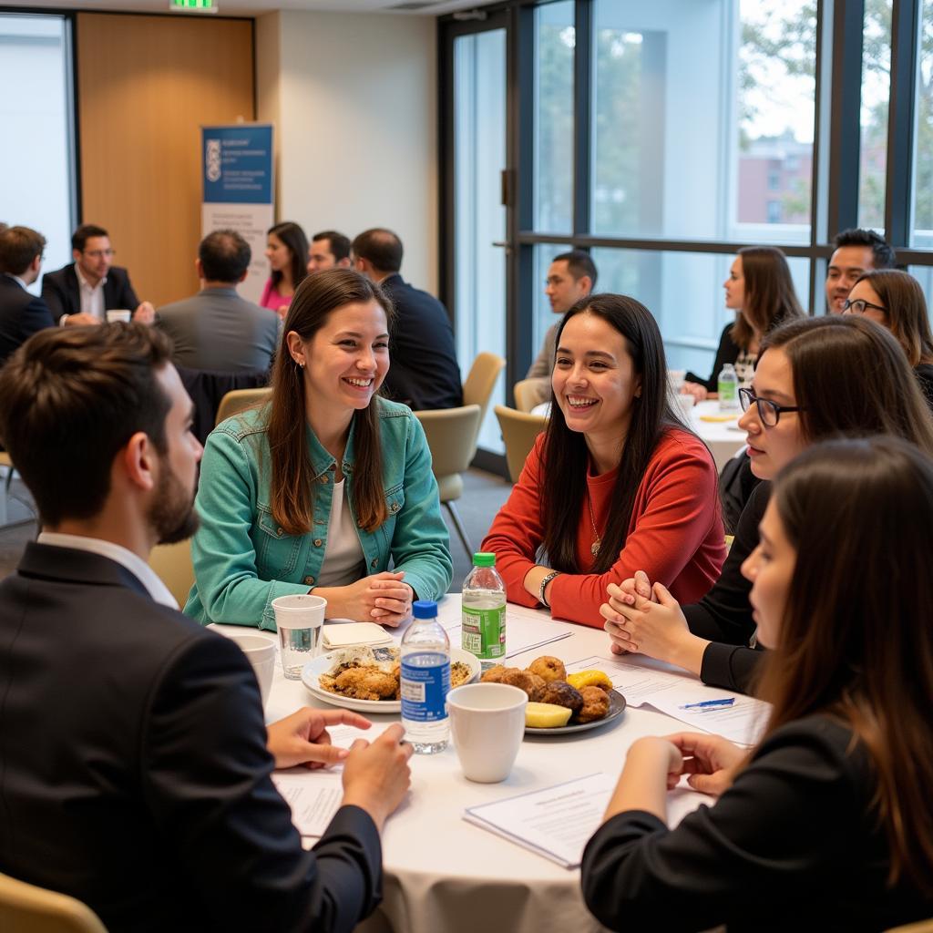
[[[509,601],[602,628],[606,586],[643,564],[678,599],[702,596],[726,557],[716,466],[668,404],[648,309],[622,295],[571,308],[551,388],[548,429],[482,543]]]

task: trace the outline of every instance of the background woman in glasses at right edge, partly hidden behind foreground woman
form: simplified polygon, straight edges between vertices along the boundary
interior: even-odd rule
[[[933,333],[920,283],[898,269],[865,272],[852,286],[842,313],[861,314],[894,334],[933,408]]]

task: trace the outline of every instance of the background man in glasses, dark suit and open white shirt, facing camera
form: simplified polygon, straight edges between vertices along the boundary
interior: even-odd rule
[[[72,234],[71,247],[75,261],[42,277],[42,297],[60,324],[65,314],[80,314],[75,323],[100,324],[108,311],[118,310],[132,312],[138,324],[155,320],[152,305],[136,298],[130,273],[113,265],[115,251],[103,227],[82,224]]]

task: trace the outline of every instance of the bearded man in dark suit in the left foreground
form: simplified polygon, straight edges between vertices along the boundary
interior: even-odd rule
[[[170,353],[150,327],[59,327],[0,371],[0,437],[43,528],[0,582],[0,871],[111,933],[349,933],[381,896],[411,745],[395,725],[341,752],[327,725],[366,723],[343,710],[267,732],[243,652],[146,564],[196,523],[202,448]],[[305,852],[272,768],[336,760],[341,808]]]

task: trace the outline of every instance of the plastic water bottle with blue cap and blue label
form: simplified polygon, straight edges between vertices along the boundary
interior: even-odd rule
[[[402,725],[419,755],[434,755],[447,747],[451,733],[451,642],[440,627],[437,603],[418,600],[411,615],[401,647]]]

